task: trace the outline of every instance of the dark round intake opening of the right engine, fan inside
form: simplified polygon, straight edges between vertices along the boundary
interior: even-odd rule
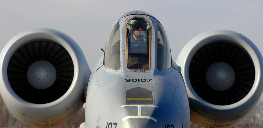
[[[190,63],[189,79],[193,89],[198,96],[211,104],[234,104],[243,99],[254,84],[255,69],[251,57],[244,50],[232,44],[232,42],[225,41],[211,42],[200,48]],[[226,71],[225,80],[217,80],[215,74],[210,74],[214,78],[206,79],[209,67],[219,62],[228,64],[234,70],[234,77],[231,77],[230,72],[226,71],[226,67],[221,63],[217,69],[222,68],[223,71]],[[212,72],[216,73],[216,69]],[[212,84],[211,81],[215,82]],[[213,88],[213,85],[224,86],[228,81],[233,81],[233,83],[227,89]]]

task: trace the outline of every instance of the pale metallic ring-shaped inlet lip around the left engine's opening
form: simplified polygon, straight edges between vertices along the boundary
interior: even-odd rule
[[[59,99],[55,100],[54,102],[46,103],[46,104],[34,104],[27,102],[23,99],[21,99],[12,89],[8,82],[7,77],[7,67],[8,63],[13,56],[13,54],[23,47],[24,45],[31,43],[32,41],[50,41],[53,43],[56,43],[60,46],[63,46],[69,53],[72,58],[73,64],[74,64],[74,77],[72,81],[72,85],[68,89],[68,91]],[[3,48],[1,54],[0,54],[0,60],[1,63],[1,73],[3,76],[2,83],[4,83],[6,86],[1,86],[1,94],[7,94],[9,99],[15,101],[16,104],[27,106],[29,108],[44,108],[44,107],[52,107],[56,106],[57,103],[60,102],[66,102],[65,99],[78,99],[79,96],[72,95],[72,92],[81,92],[83,90],[82,86],[85,84],[77,84],[80,81],[83,81],[83,79],[87,79],[87,71],[89,71],[89,67],[87,66],[85,56],[82,52],[74,52],[74,51],[81,51],[80,47],[76,45],[76,42],[71,39],[66,34],[54,30],[54,29],[45,29],[45,28],[38,28],[38,29],[28,29],[26,31],[23,31],[16,36],[14,36],[12,39],[9,40],[9,42],[6,44],[6,46]],[[85,75],[80,76],[80,72],[84,72]],[[80,76],[80,77],[79,77]],[[79,80],[81,79],[81,80]],[[76,87],[78,86],[78,87]],[[5,99],[3,98],[5,101]]]

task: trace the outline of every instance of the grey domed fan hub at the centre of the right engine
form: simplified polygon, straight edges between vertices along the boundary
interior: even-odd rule
[[[211,88],[217,91],[229,89],[234,81],[235,72],[227,63],[214,63],[206,71],[206,82]]]

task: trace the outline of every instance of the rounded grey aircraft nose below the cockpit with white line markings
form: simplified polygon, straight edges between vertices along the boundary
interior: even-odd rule
[[[118,79],[119,75],[107,74],[108,76],[105,76],[105,71],[102,68],[98,69],[92,74],[94,77],[96,75],[97,79],[91,77],[88,86],[86,102],[92,105],[86,104],[85,127],[104,127],[110,123],[112,125],[116,123],[118,127],[163,127],[164,125],[182,127],[182,123],[187,123],[190,120],[190,113],[187,113],[189,112],[189,103],[186,100],[187,95],[182,93],[186,89],[184,86],[179,86],[179,82],[182,83],[182,80],[179,81],[179,73],[175,69],[174,71],[176,72],[156,76],[156,79],[152,79],[153,77]],[[103,77],[100,77],[102,76],[100,74],[104,74]],[[134,73],[126,73],[124,76],[129,76],[129,74]],[[145,74],[149,75],[149,73]],[[171,84],[161,80],[163,78],[169,79],[171,76],[177,78]],[[127,97],[129,97],[126,92],[139,87],[152,93],[153,97],[148,99],[153,99],[152,104],[126,103]],[[99,117],[100,124],[98,125],[97,119]],[[136,122],[138,120],[141,122]]]

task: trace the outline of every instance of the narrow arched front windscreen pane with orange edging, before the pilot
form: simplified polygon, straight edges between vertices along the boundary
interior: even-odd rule
[[[127,24],[128,69],[150,69],[150,24],[133,18]]]

